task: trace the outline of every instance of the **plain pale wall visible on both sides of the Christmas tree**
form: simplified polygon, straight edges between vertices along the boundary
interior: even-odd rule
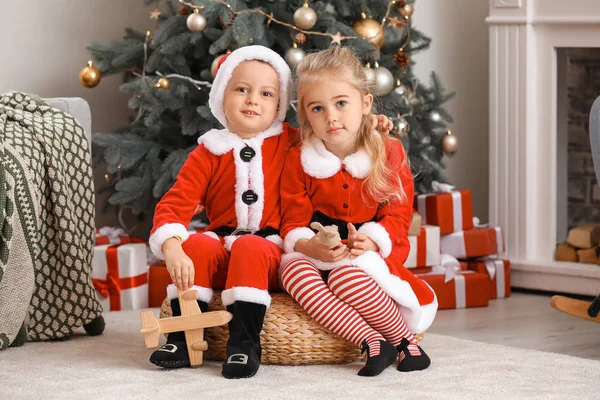
[[[83,97],[92,109],[94,132],[124,123],[130,110],[128,96],[118,90],[121,78],[105,77],[86,89],[77,74],[90,58],[85,47],[92,41],[120,39],[128,26],[152,30],[152,8],[141,0],[0,0],[0,93]],[[460,148],[446,159],[447,174],[457,186],[472,190],[475,215],[482,221],[488,216],[487,13],[484,0],[417,0],[414,15],[415,26],[433,39],[430,50],[415,58],[417,75],[428,80],[435,70],[457,92],[447,108],[456,119],[451,129]],[[98,226],[116,222],[114,216],[97,214]]]

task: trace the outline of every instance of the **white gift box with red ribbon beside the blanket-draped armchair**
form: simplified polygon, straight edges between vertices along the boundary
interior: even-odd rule
[[[105,311],[148,308],[146,245],[95,246],[92,283]]]

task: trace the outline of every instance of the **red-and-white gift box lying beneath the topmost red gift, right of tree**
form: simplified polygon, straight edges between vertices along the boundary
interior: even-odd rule
[[[456,258],[486,257],[504,251],[501,228],[475,228],[454,232],[440,239],[442,253]]]

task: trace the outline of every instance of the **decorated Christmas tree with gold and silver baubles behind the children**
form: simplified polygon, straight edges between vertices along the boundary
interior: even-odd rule
[[[199,135],[220,128],[208,107],[214,69],[228,51],[264,45],[292,69],[306,52],[346,46],[374,81],[375,107],[395,125],[408,151],[415,190],[444,182],[443,157],[457,146],[443,108],[447,93],[435,73],[429,85],[413,74],[411,57],[430,39],[412,26],[413,1],[386,0],[144,0],[154,32],[126,29],[120,41],[93,43],[94,58],[80,73],[95,86],[122,73],[120,90],[135,110],[128,125],[94,135],[96,161],[107,166],[109,203],[143,215],[173,184]],[[296,104],[287,121],[297,126]],[[102,190],[102,189],[101,189]]]

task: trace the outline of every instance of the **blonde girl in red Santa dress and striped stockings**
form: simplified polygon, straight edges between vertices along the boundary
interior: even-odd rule
[[[373,131],[373,96],[360,61],[345,48],[311,54],[297,67],[302,144],[281,180],[281,281],[321,325],[367,352],[362,376],[399,358],[399,371],[430,359],[413,334],[437,311],[433,290],[408,271],[413,179],[402,144]],[[308,228],[336,225],[329,247]]]

